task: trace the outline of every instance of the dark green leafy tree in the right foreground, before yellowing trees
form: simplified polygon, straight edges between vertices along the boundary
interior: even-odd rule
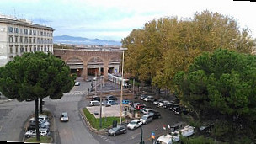
[[[178,72],[175,83],[197,119],[215,123],[212,136],[230,143],[253,140],[256,129],[256,57],[235,51],[205,52]]]

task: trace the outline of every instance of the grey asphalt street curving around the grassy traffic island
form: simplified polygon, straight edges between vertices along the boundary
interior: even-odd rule
[[[78,77],[77,81],[81,83],[80,86],[74,86],[69,93],[64,93],[61,99],[44,99],[44,109],[51,111],[52,115],[54,115],[54,124],[51,124],[54,126],[54,131],[51,136],[53,136],[55,143],[131,144],[141,141],[140,128],[132,131],[128,130],[125,135],[119,136],[97,135],[88,131],[88,127],[85,125],[79,109],[88,105],[89,99],[86,99],[86,95],[88,88],[91,88],[91,82],[85,82],[81,77]],[[105,86],[104,88],[120,88],[120,86],[110,84],[110,86]],[[163,130],[163,125],[173,125],[182,120],[181,116],[174,115],[168,109],[157,108],[149,102],[143,102],[139,99],[136,100],[147,104],[152,109],[156,109],[162,115],[161,119],[153,120],[151,123],[142,126],[143,140],[145,143],[152,143],[152,139],[150,138],[152,131],[154,131],[155,137],[157,138],[168,133],[168,130]],[[23,141],[25,133],[24,124],[28,120],[29,115],[32,115],[35,111],[35,101],[18,102],[16,99],[13,99],[0,105],[0,140]],[[68,122],[61,122],[59,120],[61,112],[67,112],[69,116]]]

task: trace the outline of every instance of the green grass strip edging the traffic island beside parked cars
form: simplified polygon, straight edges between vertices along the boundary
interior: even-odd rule
[[[99,118],[96,119],[93,114],[90,114],[88,109],[83,109],[83,114],[87,117],[89,123],[93,126],[94,129],[99,130]],[[108,128],[113,124],[113,121],[117,120],[118,123],[120,123],[120,117],[104,117],[102,118],[102,129]],[[125,118],[122,118],[122,121],[124,121]]]

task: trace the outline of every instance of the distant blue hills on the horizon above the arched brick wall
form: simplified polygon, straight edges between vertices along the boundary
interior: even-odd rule
[[[121,45],[120,41],[88,39],[83,37],[73,37],[69,35],[54,36],[55,44],[77,44],[77,45]]]

